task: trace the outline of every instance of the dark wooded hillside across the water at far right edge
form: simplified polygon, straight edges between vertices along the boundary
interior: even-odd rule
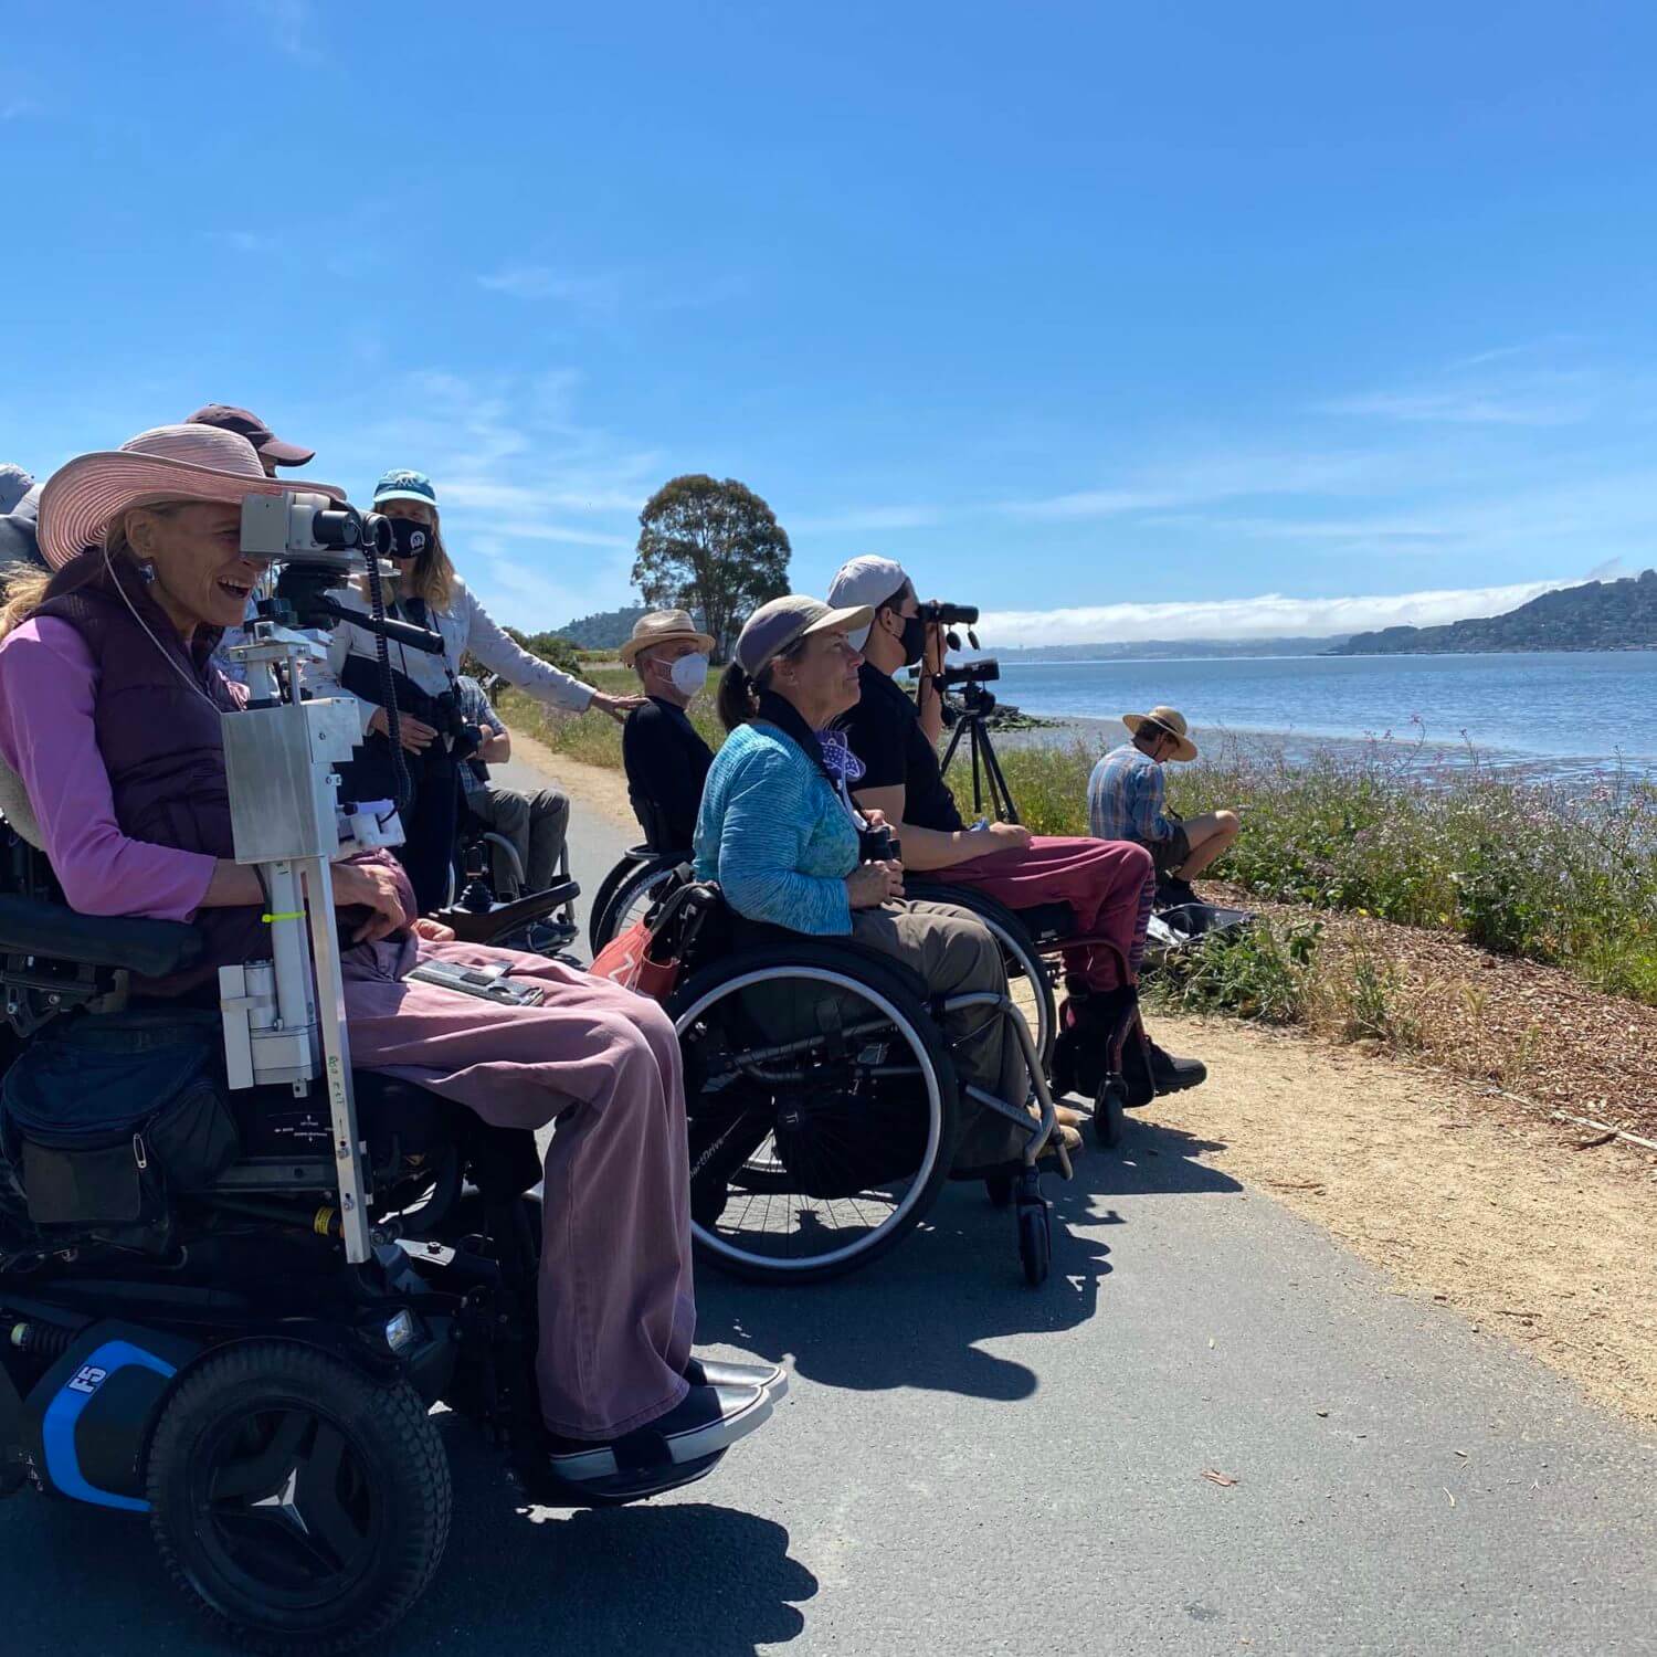
[[[1501,616],[1355,633],[1331,656],[1480,650],[1657,650],[1657,570],[1543,593]]]

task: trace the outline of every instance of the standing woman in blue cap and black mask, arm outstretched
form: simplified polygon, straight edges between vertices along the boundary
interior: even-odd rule
[[[560,673],[552,663],[515,645],[456,575],[442,545],[437,522],[437,490],[424,472],[386,472],[374,487],[374,510],[391,519],[396,543],[391,558],[398,568],[386,593],[388,611],[404,621],[442,635],[442,655],[391,645],[391,671],[398,694],[404,764],[414,794],[403,814],[404,845],[398,853],[414,886],[423,915],[441,908],[449,893],[454,837],[459,820],[456,751],[459,694],[456,679],[466,655],[476,656],[507,684],[534,696],[548,708],[587,713],[597,708],[621,721],[643,696],[610,696]],[[366,598],[355,595],[366,608]],[[394,794],[394,762],[381,706],[383,683],[374,636],[361,628],[341,626],[333,635],[330,666],[340,683],[363,703],[368,744],[353,762],[350,787],[358,799],[389,799]]]

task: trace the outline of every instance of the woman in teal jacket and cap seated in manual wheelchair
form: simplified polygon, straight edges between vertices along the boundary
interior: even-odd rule
[[[696,875],[717,880],[751,921],[822,938],[855,938],[890,954],[935,994],[1006,994],[996,941],[971,915],[903,900],[903,867],[858,862],[858,817],[824,764],[819,732],[857,699],[862,656],[847,630],[865,608],[830,610],[797,593],[749,616],[719,681],[719,719],[731,732],[714,757],[696,822]],[[1024,1104],[1029,1075],[1017,1037],[981,1007],[944,1029],[964,1084]],[[1017,1153],[1016,1128],[978,1112],[958,1168]],[[1074,1132],[1065,1128],[1067,1140]]]

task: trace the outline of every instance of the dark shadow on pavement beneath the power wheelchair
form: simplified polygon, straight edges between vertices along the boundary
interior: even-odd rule
[[[780,1524],[694,1500],[522,1511],[472,1430],[454,1417],[444,1423],[454,1471],[449,1548],[431,1589],[374,1650],[752,1657],[804,1629],[797,1607],[817,1592],[817,1579],[789,1558]],[[717,1478],[696,1488],[714,1493]],[[235,1649],[167,1581],[144,1518],[33,1495],[0,1513],[8,1650],[141,1645],[196,1657]]]

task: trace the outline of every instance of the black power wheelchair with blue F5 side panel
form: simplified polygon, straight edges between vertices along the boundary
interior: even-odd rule
[[[146,1514],[169,1574],[239,1645],[326,1654],[381,1635],[437,1569],[451,1519],[439,1400],[500,1448],[530,1501],[664,1488],[633,1475],[573,1490],[537,1458],[534,1135],[356,1072],[358,1142],[341,1148],[323,1080],[214,1085],[217,1016],[204,1027],[176,1004],[116,1007],[129,976],[189,966],[199,933],[68,910],[18,833],[33,820],[13,777],[0,810],[5,1069],[41,1042],[136,1022],[147,1054],[161,1042],[162,1060],[209,1082],[187,1140],[171,1109],[113,1142],[7,1128],[0,1495],[31,1483]],[[65,1051],[73,1062],[73,1041]],[[191,1155],[159,1153],[174,1142]],[[353,1220],[368,1244],[355,1263]]]

